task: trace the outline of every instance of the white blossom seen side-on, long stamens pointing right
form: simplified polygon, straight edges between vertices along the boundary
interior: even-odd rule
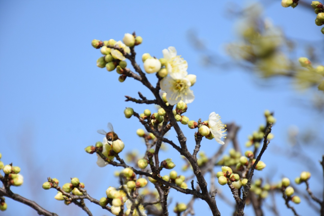
[[[219,143],[224,145],[224,141],[222,141],[222,138],[226,138],[226,124],[223,124],[221,122],[221,117],[216,114],[215,112],[210,113],[209,118],[208,118],[208,125],[210,128],[210,132],[214,136],[215,140]],[[225,129],[225,130],[224,130]]]

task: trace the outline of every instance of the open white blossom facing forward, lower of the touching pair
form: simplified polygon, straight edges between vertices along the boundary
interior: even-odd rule
[[[191,82],[188,78],[165,77],[160,83],[161,90],[167,92],[167,100],[170,105],[177,104],[180,100],[191,103],[195,99],[193,91],[190,90]]]

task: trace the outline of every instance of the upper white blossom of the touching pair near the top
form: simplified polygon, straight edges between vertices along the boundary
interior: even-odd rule
[[[188,75],[188,63],[181,56],[177,56],[177,50],[174,47],[163,49],[163,58],[167,60],[166,68],[173,79],[179,79]]]

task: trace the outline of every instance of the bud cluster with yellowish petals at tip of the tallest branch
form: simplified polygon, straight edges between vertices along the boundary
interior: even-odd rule
[[[96,49],[100,49],[101,54],[104,55],[97,60],[97,66],[99,68],[106,67],[108,71],[116,69],[117,73],[121,75],[118,80],[120,82],[125,81],[127,77],[125,74],[127,66],[126,61],[124,61],[126,59],[125,56],[131,53],[130,48],[141,44],[142,41],[143,38],[136,36],[135,33],[126,33],[123,38],[124,43],[114,39],[105,41],[92,40],[91,45]],[[121,49],[123,53],[120,51]]]

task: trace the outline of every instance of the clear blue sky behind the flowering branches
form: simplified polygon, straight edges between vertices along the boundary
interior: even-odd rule
[[[311,12],[301,7],[283,8],[280,1],[267,3],[266,16],[283,27],[288,37],[303,40],[322,37],[319,28],[311,25],[315,19]],[[132,149],[142,152],[145,146],[135,134],[141,125],[135,118],[125,119],[123,110],[131,106],[141,113],[154,107],[124,102],[124,95],[137,97],[138,91],[148,98],[152,95],[138,82],[128,78],[120,83],[115,71],[98,68],[96,60],[101,54],[91,46],[91,40],[121,40],[124,33],[133,31],[143,37],[143,44],[136,47],[141,66],[143,53],[161,58],[162,49],[174,46],[187,60],[188,72],[197,75],[197,83],[191,88],[196,99],[186,113],[190,119],[207,120],[209,113],[219,113],[224,122],[235,121],[241,126],[238,138],[243,145],[247,135],[264,122],[264,110],[274,111],[275,139],[262,159],[267,168],[258,175],[276,181],[283,176],[291,180],[297,177],[306,167],[275,153],[278,146],[289,147],[286,138],[289,125],[297,125],[301,131],[323,128],[322,116],[295,103],[295,99],[308,100],[310,94],[297,94],[285,79],[270,80],[270,87],[264,88],[259,85],[264,81],[245,71],[205,68],[199,62],[201,53],[191,47],[186,37],[188,30],[196,30],[209,49],[228,60],[224,44],[236,40],[233,19],[236,14],[228,10],[233,4],[226,1],[1,1],[1,160],[20,166],[25,178],[24,185],[13,191],[59,215],[85,215],[72,204],[67,207],[54,200],[56,192],[41,189],[41,184],[49,176],[58,178],[62,184],[70,177],[78,177],[96,199],[105,196],[109,186],[118,186],[112,173],[119,169],[98,167],[97,157],[86,154],[84,148],[102,140],[97,130],[107,130],[107,123],[111,122],[125,143],[123,153]],[[238,9],[246,5],[235,4]],[[292,17],[294,22],[290,21]],[[155,83],[155,76],[150,80]],[[188,135],[188,145],[193,146],[194,131],[187,126],[183,126],[183,130]],[[202,142],[202,150],[208,155],[218,147],[214,141],[204,139]],[[319,168],[317,161],[323,148],[319,151],[310,146],[304,150]],[[180,170],[183,162],[172,149],[162,157],[172,157],[177,162],[176,170]],[[319,180],[311,181],[314,190],[322,187],[319,183],[322,177],[318,176]],[[298,188],[304,189],[304,186]],[[228,188],[220,189],[231,199]],[[170,212],[176,201],[190,199],[190,196],[171,193],[175,195]],[[6,201],[8,209],[1,215],[37,215],[23,204]],[[302,199],[302,202],[296,206],[297,211],[300,214],[312,212],[306,201]],[[282,214],[292,215],[283,203],[278,197],[277,205]],[[95,215],[109,215],[98,206],[88,206]],[[197,213],[209,215],[206,207],[203,202],[195,205]],[[219,208],[223,215],[230,214],[226,213],[225,204],[219,204]]]

